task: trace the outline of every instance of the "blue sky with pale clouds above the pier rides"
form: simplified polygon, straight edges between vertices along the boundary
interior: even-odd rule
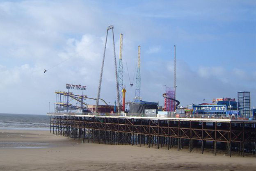
[[[164,85],[174,86],[175,45],[181,105],[237,99],[238,91],[250,91],[251,107],[256,107],[255,0],[2,0],[0,113],[46,114],[49,103],[52,112],[55,91],[66,91],[66,83],[86,85],[85,95],[95,98],[109,25],[114,25],[117,64],[123,34],[127,101],[135,97],[128,72],[132,82],[140,45],[142,100],[163,105]],[[113,105],[109,35],[100,97]]]

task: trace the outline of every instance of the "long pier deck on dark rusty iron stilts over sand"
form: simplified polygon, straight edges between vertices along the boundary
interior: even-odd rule
[[[49,113],[50,133],[78,141],[161,148],[201,148],[207,143],[217,155],[217,144],[231,157],[256,156],[256,120],[91,116]],[[198,144],[201,144],[200,147]]]

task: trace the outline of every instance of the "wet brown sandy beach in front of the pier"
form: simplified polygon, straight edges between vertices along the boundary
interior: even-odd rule
[[[255,171],[255,157],[194,150],[80,144],[48,131],[0,130],[1,171]]]

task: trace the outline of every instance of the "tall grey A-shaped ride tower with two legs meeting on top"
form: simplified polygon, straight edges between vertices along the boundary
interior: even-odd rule
[[[119,86],[118,86],[118,78],[117,78],[117,58],[116,58],[116,50],[114,45],[114,26],[110,25],[107,27],[107,34],[108,31],[112,29],[112,36],[113,36],[113,48],[114,48],[114,65],[115,65],[115,76],[116,76],[116,88],[117,88],[117,111],[118,114],[120,114],[120,99],[119,99]],[[103,68],[104,68],[104,60],[105,60],[105,52],[106,52],[106,46],[107,46],[107,35],[106,35],[106,41],[105,41],[105,47],[103,52],[103,59],[102,59],[102,65],[101,65],[101,75],[100,75],[100,81],[98,85],[98,95],[96,99],[96,108],[95,112],[98,112],[98,103],[100,99],[100,93],[101,93],[101,82],[102,82],[102,75],[103,75]]]

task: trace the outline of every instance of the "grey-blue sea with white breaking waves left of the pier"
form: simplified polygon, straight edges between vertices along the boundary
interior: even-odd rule
[[[50,116],[36,114],[1,114],[0,129],[49,130]]]

